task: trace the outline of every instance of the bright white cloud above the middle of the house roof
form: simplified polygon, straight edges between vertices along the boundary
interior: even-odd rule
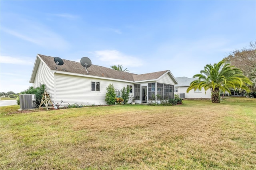
[[[122,64],[123,67],[140,67],[142,60],[136,57],[125,55],[117,50],[101,50],[93,52],[96,57],[109,65]]]

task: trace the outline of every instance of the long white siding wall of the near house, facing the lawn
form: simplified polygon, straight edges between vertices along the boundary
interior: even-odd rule
[[[106,105],[106,88],[110,83],[113,83],[115,89],[119,91],[127,85],[132,85],[134,89],[133,83],[72,75],[56,74],[55,81],[56,103],[67,102],[62,103],[61,106],[67,106],[68,103],[70,105],[74,103],[79,105]],[[92,81],[100,82],[100,91],[91,91]],[[130,95],[132,94],[134,95],[134,91],[130,93]]]

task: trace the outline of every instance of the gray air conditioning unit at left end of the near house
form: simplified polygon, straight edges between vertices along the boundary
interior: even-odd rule
[[[20,109],[34,109],[36,104],[33,102],[36,101],[36,95],[20,95]]]

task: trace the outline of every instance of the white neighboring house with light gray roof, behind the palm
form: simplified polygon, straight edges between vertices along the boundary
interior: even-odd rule
[[[174,93],[179,94],[180,98],[211,98],[211,90],[208,89],[205,93],[204,88],[201,90],[194,89],[190,90],[188,93],[186,92],[188,87],[190,86],[190,83],[197,78],[188,78],[188,77],[176,77],[176,80],[178,81],[177,85],[174,85]]]

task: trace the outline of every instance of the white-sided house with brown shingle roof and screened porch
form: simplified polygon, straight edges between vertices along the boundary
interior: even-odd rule
[[[170,70],[138,75],[92,64],[87,73],[79,62],[65,59],[63,62],[56,65],[54,57],[37,54],[30,78],[33,87],[46,85],[51,101],[63,102],[61,106],[106,105],[106,87],[110,83],[118,94],[123,87],[130,87],[130,96],[139,104],[147,103],[153,95],[174,99],[174,85],[178,84]]]

